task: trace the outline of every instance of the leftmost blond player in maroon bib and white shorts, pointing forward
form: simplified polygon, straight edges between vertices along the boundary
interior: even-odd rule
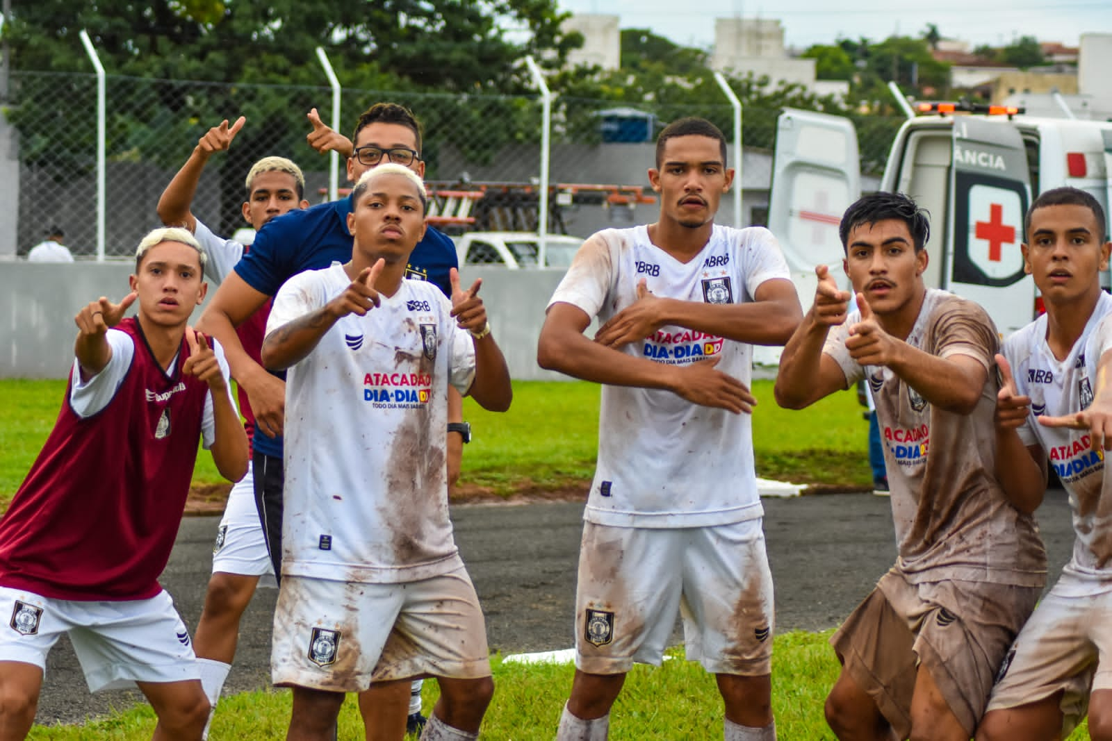
[[[139,243],[131,293],[75,318],[54,429],[0,520],[0,739],[34,720],[47,653],[69,633],[91,691],[137,684],[156,739],[199,739],[208,717],[189,633],[158,583],[198,441],[247,471],[224,352],[187,326],[205,256],[183,229]],[[123,319],[138,304],[138,314]]]

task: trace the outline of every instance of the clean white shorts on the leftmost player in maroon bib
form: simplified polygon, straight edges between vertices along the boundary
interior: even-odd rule
[[[69,633],[90,692],[200,679],[189,631],[165,590],[149,600],[77,602],[0,587],[0,660],[43,673],[47,653]]]

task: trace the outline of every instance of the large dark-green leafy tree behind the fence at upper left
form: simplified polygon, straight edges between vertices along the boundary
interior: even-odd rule
[[[533,54],[556,69],[572,48],[582,44],[579,34],[560,31],[564,17],[556,0],[38,0],[18,3],[3,32],[16,70],[91,71],[78,38],[86,29],[110,76],[146,81],[109,82],[110,97],[121,96],[118,88],[128,84],[150,97],[149,107],[139,111],[112,107],[110,158],[172,166],[221,118],[242,113],[255,122],[221,161],[226,176],[221,227],[228,229],[239,222],[240,178],[258,152],[309,157],[305,112],[311,106],[327,106],[327,98],[317,100],[321,97],[316,89],[324,83],[318,46],[326,48],[348,89],[520,93],[532,91],[528,72],[518,63],[524,56]],[[525,32],[512,37],[507,28]],[[524,41],[515,40],[518,36]],[[205,87],[198,81],[237,87]],[[8,116],[24,136],[24,161],[64,160],[62,142],[73,141],[71,164],[88,168],[88,144],[95,134],[89,108],[67,106],[88,99],[88,80],[30,76],[21,84],[13,90],[16,104]],[[291,91],[290,86],[314,90]],[[507,102],[505,108],[505,118],[513,120],[514,106]],[[156,120],[147,111],[159,111]],[[347,109],[348,117],[353,112]],[[417,112],[426,119],[449,116]],[[502,118],[495,110],[486,116]],[[431,123],[426,120],[430,129]],[[488,128],[492,136],[486,142],[493,149],[500,147],[498,137],[507,140],[516,133]],[[450,139],[474,129],[453,126],[436,131]]]

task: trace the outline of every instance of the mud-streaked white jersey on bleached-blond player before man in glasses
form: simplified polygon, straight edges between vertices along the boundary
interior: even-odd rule
[[[334,263],[278,291],[267,333],[351,280]],[[466,392],[475,346],[431,283],[404,280],[338,321],[286,380],[282,574],[394,583],[460,565],[448,520],[447,384]]]

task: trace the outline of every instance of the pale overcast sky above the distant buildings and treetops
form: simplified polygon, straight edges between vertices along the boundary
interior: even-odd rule
[[[934,23],[946,38],[974,46],[1003,46],[1021,36],[1076,46],[1081,33],[1112,33],[1112,0],[558,0],[562,10],[610,13],[622,28],[649,28],[673,41],[701,48],[714,43],[714,20],[777,19],[788,46],[832,43],[840,37],[882,40],[919,36]],[[902,6],[902,8],[901,8]]]

